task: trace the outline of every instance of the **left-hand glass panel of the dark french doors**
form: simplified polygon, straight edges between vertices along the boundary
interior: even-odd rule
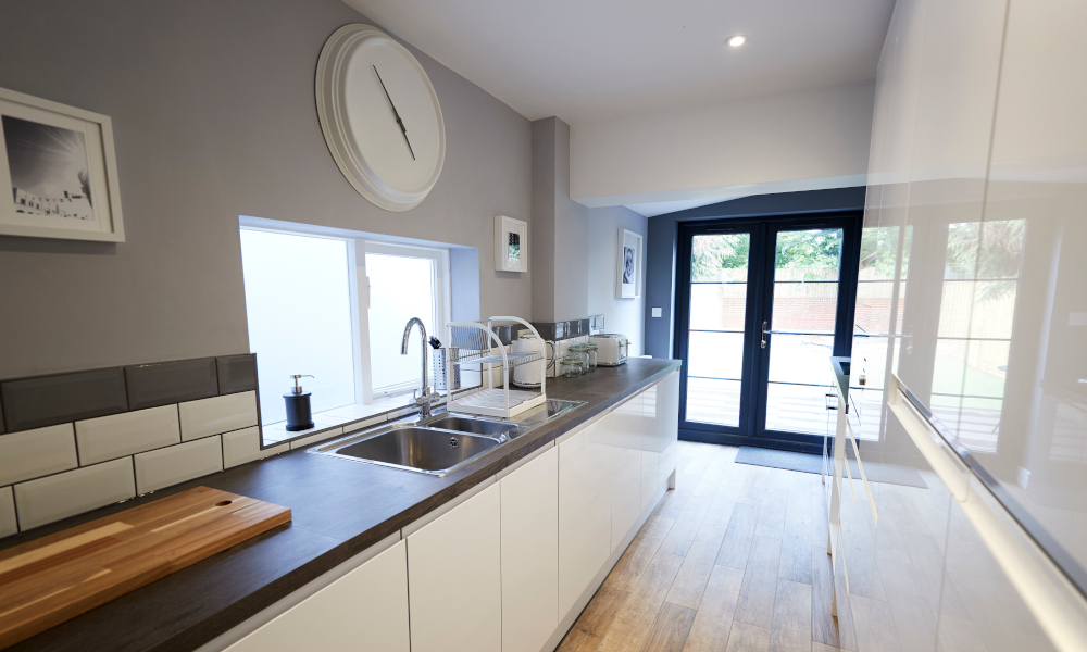
[[[751,234],[691,238],[687,421],[739,426]]]

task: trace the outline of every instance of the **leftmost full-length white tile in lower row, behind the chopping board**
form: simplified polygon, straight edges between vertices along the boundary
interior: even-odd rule
[[[136,496],[132,457],[15,485],[18,527],[26,531]]]

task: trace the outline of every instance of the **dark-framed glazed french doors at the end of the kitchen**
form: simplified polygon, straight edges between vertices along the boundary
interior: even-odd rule
[[[848,355],[861,214],[680,226],[679,437],[820,452]]]

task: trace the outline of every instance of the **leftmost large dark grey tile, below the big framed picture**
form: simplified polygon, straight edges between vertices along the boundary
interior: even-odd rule
[[[128,410],[122,367],[0,383],[9,432]]]

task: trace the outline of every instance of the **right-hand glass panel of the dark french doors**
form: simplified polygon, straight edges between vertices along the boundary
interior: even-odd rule
[[[828,362],[834,354],[841,228],[779,230],[771,315],[763,321],[766,430],[826,431]]]

